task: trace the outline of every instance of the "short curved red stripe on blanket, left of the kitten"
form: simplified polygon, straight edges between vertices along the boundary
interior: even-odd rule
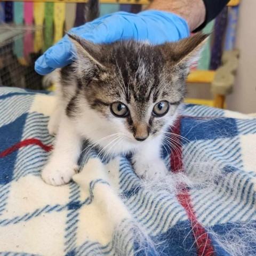
[[[15,150],[22,147],[29,146],[29,145],[37,145],[47,152],[52,150],[52,146],[47,146],[41,140],[32,138],[32,139],[26,139],[26,140],[20,141],[17,144],[13,145],[12,147],[5,149],[0,153],[0,157],[5,157],[11,154]]]

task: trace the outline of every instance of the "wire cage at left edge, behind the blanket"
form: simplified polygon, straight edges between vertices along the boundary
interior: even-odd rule
[[[42,76],[34,64],[42,54],[42,44],[40,26],[0,25],[0,86],[41,90]]]

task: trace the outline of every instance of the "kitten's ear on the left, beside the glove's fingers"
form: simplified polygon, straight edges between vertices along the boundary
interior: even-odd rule
[[[99,44],[94,44],[74,34],[67,35],[70,41],[75,45],[77,53],[77,71],[81,73],[80,75],[93,74],[95,71],[105,69],[99,60],[99,56],[102,52]]]

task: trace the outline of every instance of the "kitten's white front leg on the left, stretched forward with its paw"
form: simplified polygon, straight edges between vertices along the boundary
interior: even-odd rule
[[[42,178],[50,185],[59,186],[68,183],[77,172],[82,146],[81,138],[65,114],[61,116],[55,143],[50,161],[42,171]]]

